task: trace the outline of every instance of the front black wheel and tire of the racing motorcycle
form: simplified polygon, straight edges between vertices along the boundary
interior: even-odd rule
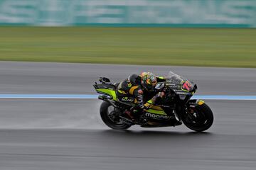
[[[181,116],[181,119],[191,130],[203,132],[213,125],[213,112],[206,103],[198,105],[195,108],[188,108],[187,114]]]

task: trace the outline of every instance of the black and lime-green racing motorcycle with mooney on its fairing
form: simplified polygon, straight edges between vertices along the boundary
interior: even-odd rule
[[[174,72],[169,72],[166,81],[156,84],[154,94],[164,91],[164,98],[149,100],[144,106],[144,113],[139,120],[134,121],[127,111],[136,105],[136,99],[127,96],[127,101],[119,101],[116,94],[118,84],[112,84],[110,79],[100,77],[100,83],[93,85],[98,98],[102,100],[100,116],[103,122],[112,129],[126,130],[132,125],[143,128],[177,126],[182,123],[187,128],[202,132],[213,124],[213,112],[203,100],[191,99],[197,90],[196,84]]]

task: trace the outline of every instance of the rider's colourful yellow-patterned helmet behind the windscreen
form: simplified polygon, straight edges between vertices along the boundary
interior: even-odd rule
[[[154,91],[157,84],[156,76],[151,72],[142,72],[141,74],[141,84],[146,91]]]

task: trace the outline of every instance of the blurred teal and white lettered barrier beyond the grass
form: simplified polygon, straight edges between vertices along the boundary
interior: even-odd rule
[[[256,27],[255,0],[0,0],[1,25]]]

